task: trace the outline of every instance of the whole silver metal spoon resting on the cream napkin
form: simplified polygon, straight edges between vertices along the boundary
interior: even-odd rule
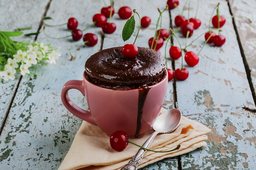
[[[153,129],[155,130],[155,132],[149,136],[149,138],[142,145],[142,147],[148,148],[151,142],[153,141],[154,137],[158,133],[171,133],[179,126],[180,120],[181,112],[179,109],[170,109],[162,113],[160,116],[157,117],[156,122],[153,125]],[[144,153],[144,149],[139,149],[137,154],[133,156],[129,163],[123,166],[121,170],[137,170],[137,165],[142,160],[142,156]]]

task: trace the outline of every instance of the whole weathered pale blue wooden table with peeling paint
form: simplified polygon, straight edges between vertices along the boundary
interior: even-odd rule
[[[109,1],[106,1],[109,3]],[[202,22],[198,30],[188,40],[208,30],[213,8],[220,2],[220,14],[226,23],[222,34],[226,42],[222,47],[206,44],[201,51],[199,64],[185,68],[190,76],[185,81],[168,83],[164,107],[178,107],[183,115],[211,128],[208,146],[175,158],[167,158],[143,170],[254,170],[256,167],[256,1],[255,0],[208,0],[200,1],[197,18]],[[185,3],[180,0],[179,8]],[[152,23],[158,18],[157,7],[164,9],[166,0],[116,0],[116,12],[128,5],[136,9],[140,16],[149,16]],[[190,16],[196,13],[196,0],[191,0]],[[92,23],[92,16],[104,7],[101,0],[0,0],[0,30],[13,31],[15,28],[32,26],[32,30],[42,30],[41,19],[51,16],[49,24],[65,23],[70,17],[78,19],[78,28]],[[174,17],[178,9],[163,14],[163,28],[176,30]],[[188,7],[184,15],[188,15]],[[247,16],[247,19],[231,15]],[[135,16],[136,21],[137,16]],[[95,47],[83,45],[73,49],[75,59],[70,61],[69,48],[75,44],[71,38],[54,40],[40,33],[37,37],[16,37],[15,40],[35,40],[49,43],[60,49],[62,56],[56,65],[40,66],[40,76],[17,76],[14,81],[0,82],[0,169],[51,170],[57,169],[64,159],[82,121],[68,112],[62,105],[60,92],[65,82],[82,79],[84,63],[92,54],[101,49],[123,46],[121,32],[126,20],[114,14],[117,25],[113,34],[102,33],[101,28],[92,27],[84,33],[95,33],[99,41]],[[138,22],[137,22],[138,23]],[[135,31],[138,25],[136,23]],[[148,47],[154,36],[155,26],[141,29],[137,46]],[[47,27],[53,37],[69,35],[66,26]],[[185,38],[176,33],[182,46]],[[133,42],[135,34],[128,40]],[[127,42],[126,42],[127,43]],[[173,44],[178,46],[177,40]],[[196,53],[204,44],[204,36],[195,41],[187,50]],[[170,45],[168,44],[169,48]],[[164,47],[161,48],[164,54]],[[168,51],[167,51],[168,54]],[[171,60],[169,67],[180,68],[181,59]],[[78,91],[73,90],[71,99],[78,106],[88,109],[87,103]]]

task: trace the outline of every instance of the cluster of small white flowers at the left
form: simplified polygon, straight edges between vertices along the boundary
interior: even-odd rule
[[[0,80],[14,80],[15,74],[33,74],[37,64],[55,64],[60,57],[60,52],[44,43],[31,43],[25,50],[19,49],[17,54],[7,59],[6,64],[0,69]]]

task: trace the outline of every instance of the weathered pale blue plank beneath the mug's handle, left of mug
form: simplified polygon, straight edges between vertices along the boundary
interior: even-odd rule
[[[29,3],[26,2],[25,5]],[[47,16],[51,16],[54,21],[47,21],[47,23],[65,23],[69,17],[76,17],[79,22],[78,28],[83,29],[92,23],[92,16],[97,12],[95,9],[100,10],[103,5],[101,0],[94,3],[84,0],[76,3],[64,0],[61,4],[57,0],[52,0]],[[34,7],[36,7],[35,4]],[[19,11],[26,13],[23,9]],[[40,14],[42,15],[43,13]],[[26,20],[29,20],[28,16]],[[23,21],[23,23],[26,22]],[[30,77],[23,77],[21,80],[0,137],[2,169],[50,170],[59,167],[82,122],[62,105],[60,92],[68,80],[82,79],[86,59],[100,49],[100,30],[93,27],[84,32],[96,33],[99,41],[95,47],[83,47],[83,45],[75,47],[72,53],[76,58],[73,61],[69,60],[69,48],[76,42],[72,42],[71,38],[53,40],[43,33],[38,36],[38,42],[59,47],[62,56],[56,65],[41,66],[37,72],[40,76],[31,77],[32,80]],[[53,37],[70,35],[66,26],[47,27],[45,31]],[[80,50],[76,50],[78,48]],[[75,103],[88,109],[80,92],[74,90],[71,93]]]

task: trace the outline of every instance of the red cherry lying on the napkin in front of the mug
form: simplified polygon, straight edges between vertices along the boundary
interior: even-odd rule
[[[116,151],[123,151],[126,149],[128,142],[128,135],[124,131],[116,131],[110,136],[110,145]]]

